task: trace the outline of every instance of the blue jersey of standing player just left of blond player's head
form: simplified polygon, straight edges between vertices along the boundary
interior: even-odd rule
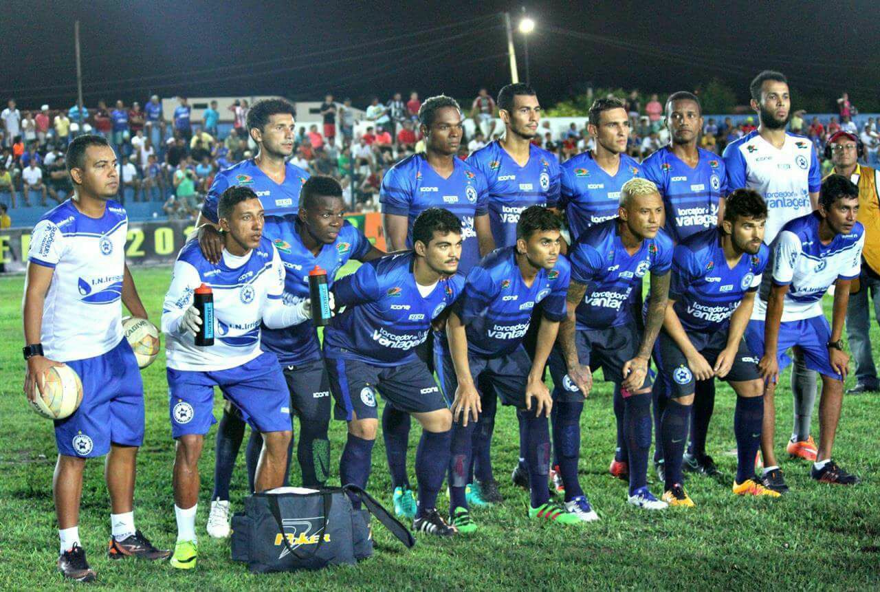
[[[589,150],[569,158],[561,169],[559,207],[568,215],[572,241],[590,226],[616,218],[620,187],[642,175],[642,167],[626,154],[620,155],[620,166],[614,176],[609,175],[596,164]]]

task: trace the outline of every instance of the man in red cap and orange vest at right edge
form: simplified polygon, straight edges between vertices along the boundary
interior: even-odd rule
[[[871,356],[869,293],[874,310],[880,317],[880,177],[877,171],[858,163],[858,138],[839,131],[828,139],[834,174],[843,175],[859,187],[859,222],[865,227],[865,246],[862,249],[862,274],[852,283],[847,306],[847,340],[855,360],[855,386],[850,395],[880,391],[880,380]]]

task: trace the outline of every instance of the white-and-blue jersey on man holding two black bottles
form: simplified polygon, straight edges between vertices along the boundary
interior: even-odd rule
[[[179,329],[193,303],[193,292],[202,283],[214,293],[216,319],[214,345],[206,347],[196,346],[192,333],[181,334]],[[197,241],[187,243],[174,263],[171,287],[162,306],[168,368],[224,370],[262,354],[260,321],[271,309],[284,308],[283,291],[284,267],[268,238],[262,238],[260,246],[243,257],[224,250],[217,265],[204,258]]]

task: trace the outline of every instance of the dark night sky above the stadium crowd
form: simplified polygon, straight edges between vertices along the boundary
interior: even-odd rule
[[[832,5],[833,4],[833,5]],[[493,2],[4,2],[0,97],[21,108],[76,99],[73,20],[81,21],[84,101],[281,94],[295,100],[417,90],[473,98],[510,81]],[[711,6],[711,7],[707,7]],[[880,3],[526,3],[532,85],[548,106],[588,84],[693,90],[719,77],[748,99],[760,70],[858,104],[880,89]],[[523,37],[514,33],[524,79]]]

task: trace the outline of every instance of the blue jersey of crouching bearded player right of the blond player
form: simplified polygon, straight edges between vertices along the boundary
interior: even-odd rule
[[[686,331],[726,332],[730,315],[746,292],[758,289],[770,249],[761,243],[758,254],[743,253],[732,269],[721,245],[722,231],[703,230],[686,238],[672,255],[669,297]]]

